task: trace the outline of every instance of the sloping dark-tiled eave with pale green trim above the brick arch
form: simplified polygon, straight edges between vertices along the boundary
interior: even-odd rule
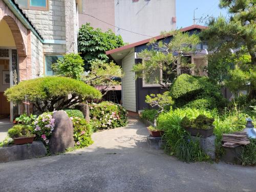
[[[42,38],[40,33],[37,31],[35,26],[32,24],[32,22],[28,18],[27,14],[22,10],[22,8],[19,7],[16,1],[15,0],[3,0],[3,1],[8,6],[8,8],[13,12],[13,14],[20,20],[20,22],[22,22],[27,29],[30,29],[41,42],[44,42],[44,39]]]

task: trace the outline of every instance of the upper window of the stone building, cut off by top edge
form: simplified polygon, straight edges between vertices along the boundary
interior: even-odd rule
[[[49,0],[16,0],[23,9],[48,11]]]

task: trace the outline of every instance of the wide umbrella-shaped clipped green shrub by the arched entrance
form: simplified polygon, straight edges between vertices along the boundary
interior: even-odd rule
[[[68,95],[71,98],[68,98]],[[27,96],[41,113],[69,108],[84,99],[101,98],[101,93],[82,81],[67,77],[41,77],[19,82],[5,91],[9,101],[22,102]]]

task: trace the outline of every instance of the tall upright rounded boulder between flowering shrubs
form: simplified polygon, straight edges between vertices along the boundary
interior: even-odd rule
[[[51,154],[62,153],[66,148],[74,147],[73,123],[65,111],[56,111],[53,113],[55,127],[49,142]]]

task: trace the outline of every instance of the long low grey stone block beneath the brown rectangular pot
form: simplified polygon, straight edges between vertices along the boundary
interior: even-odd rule
[[[31,144],[0,147],[0,163],[44,157],[46,153],[46,147],[41,141],[34,141]]]

